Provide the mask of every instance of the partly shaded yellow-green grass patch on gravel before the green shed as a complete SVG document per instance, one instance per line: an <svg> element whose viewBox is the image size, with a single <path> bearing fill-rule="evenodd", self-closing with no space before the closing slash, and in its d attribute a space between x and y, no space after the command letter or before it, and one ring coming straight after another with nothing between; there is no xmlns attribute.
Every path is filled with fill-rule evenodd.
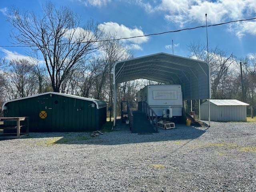
<svg viewBox="0 0 256 192"><path fill-rule="evenodd" d="M68 144L73 143L76 141L85 141L90 139L89 137L82 136L82 137L74 137L74 138L64 138L64 137L52 137L48 138L46 140L37 142L37 145L39 146L52 146L55 144Z"/></svg>

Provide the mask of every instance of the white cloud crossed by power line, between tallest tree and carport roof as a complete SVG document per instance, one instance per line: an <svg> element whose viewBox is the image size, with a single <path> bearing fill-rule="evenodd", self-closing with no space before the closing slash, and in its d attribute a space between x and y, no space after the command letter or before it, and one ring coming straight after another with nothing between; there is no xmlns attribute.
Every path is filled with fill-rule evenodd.
<svg viewBox="0 0 256 192"><path fill-rule="evenodd" d="M104 30L104 32L109 32L111 34L116 34L118 38L127 38L132 36L143 36L145 35L141 29L135 28L128 28L123 24L118 24L115 22L104 22L103 24L99 24L99 28ZM132 42L135 44L142 44L149 40L148 37L138 37L124 40L124 42Z"/></svg>

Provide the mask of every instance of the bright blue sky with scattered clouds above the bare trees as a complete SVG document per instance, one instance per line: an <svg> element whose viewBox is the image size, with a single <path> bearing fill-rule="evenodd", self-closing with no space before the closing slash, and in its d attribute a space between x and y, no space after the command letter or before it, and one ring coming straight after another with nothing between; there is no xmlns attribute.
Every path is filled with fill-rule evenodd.
<svg viewBox="0 0 256 192"><path fill-rule="evenodd" d="M10 24L6 12L11 6L21 10L42 12L46 0L5 0L0 2L0 45L12 45ZM256 17L255 0L52 0L58 6L68 6L82 16L82 23L92 18L106 31L117 32L119 37L151 34L180 28ZM208 28L209 46L244 57L256 53L256 20ZM149 38L125 41L135 56L157 52L188 56L188 44L206 44L205 28ZM15 58L26 55L26 48L0 48L0 57Z"/></svg>

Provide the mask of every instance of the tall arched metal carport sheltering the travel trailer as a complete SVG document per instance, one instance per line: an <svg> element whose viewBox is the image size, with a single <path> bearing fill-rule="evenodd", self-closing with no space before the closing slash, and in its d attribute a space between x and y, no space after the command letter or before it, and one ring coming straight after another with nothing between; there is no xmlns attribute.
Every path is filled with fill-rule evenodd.
<svg viewBox="0 0 256 192"><path fill-rule="evenodd" d="M113 76L114 126L116 124L116 85L121 82L144 78L165 84L181 84L183 100L211 97L209 65L207 62L191 58L157 53L122 60L114 64ZM210 115L208 120L210 126Z"/></svg>

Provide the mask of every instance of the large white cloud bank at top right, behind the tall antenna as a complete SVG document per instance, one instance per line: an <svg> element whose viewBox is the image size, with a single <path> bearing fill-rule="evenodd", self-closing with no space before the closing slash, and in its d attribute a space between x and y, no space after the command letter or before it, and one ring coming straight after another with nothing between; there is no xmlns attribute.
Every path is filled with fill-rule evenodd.
<svg viewBox="0 0 256 192"><path fill-rule="evenodd" d="M163 12L166 20L180 27L191 22L205 24L205 13L208 24L250 18L256 14L256 0L161 0L158 4L136 0L136 4L149 13ZM236 27L238 37L246 33L255 34L255 22L241 24ZM242 29L244 26L246 28Z"/></svg>

